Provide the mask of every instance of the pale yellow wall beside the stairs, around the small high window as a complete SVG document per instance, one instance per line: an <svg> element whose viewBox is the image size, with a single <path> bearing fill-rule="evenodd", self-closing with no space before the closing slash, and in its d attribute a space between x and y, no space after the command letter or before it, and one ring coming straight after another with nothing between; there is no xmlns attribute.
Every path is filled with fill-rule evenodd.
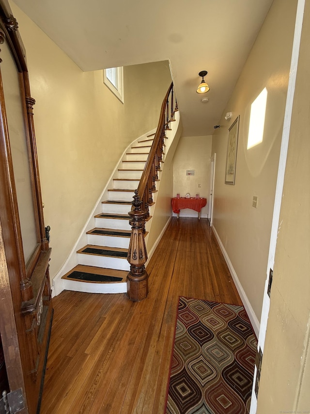
<svg viewBox="0 0 310 414"><path fill-rule="evenodd" d="M102 70L82 72L13 2L11 7L27 51L31 95L36 99L34 122L45 224L51 227L52 278L124 149L157 126L171 74L162 62L125 67L122 104L103 83ZM146 105L142 86L148 73L154 83L148 85L152 100Z"/></svg>

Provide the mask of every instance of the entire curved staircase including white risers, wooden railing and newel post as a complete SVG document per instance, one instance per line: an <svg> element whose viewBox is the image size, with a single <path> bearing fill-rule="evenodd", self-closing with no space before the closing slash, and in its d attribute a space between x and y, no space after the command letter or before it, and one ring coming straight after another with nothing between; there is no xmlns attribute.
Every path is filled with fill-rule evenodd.
<svg viewBox="0 0 310 414"><path fill-rule="evenodd" d="M161 106L157 128L142 135L125 150L75 248L54 277L53 292L56 296L62 290L74 290L127 293L128 298L135 301L146 298L148 232L152 216L155 215L156 221L162 213L160 209L157 212L154 206L161 193L158 182L162 178L163 163L166 161L168 166L171 165L181 132L182 123L171 83ZM164 186L162 194L167 201L165 191ZM168 216L170 210L167 203L165 209ZM169 218L166 224L161 222L159 227L157 223L154 232L157 239L150 239L153 243L151 254Z"/></svg>

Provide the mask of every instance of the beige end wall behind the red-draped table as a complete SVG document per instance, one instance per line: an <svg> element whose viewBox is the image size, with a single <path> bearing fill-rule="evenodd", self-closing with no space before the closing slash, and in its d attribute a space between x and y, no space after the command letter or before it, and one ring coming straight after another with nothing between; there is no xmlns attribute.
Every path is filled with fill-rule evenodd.
<svg viewBox="0 0 310 414"><path fill-rule="evenodd" d="M212 148L212 135L182 136L173 159L173 197L179 193L185 197L199 194L200 197L209 198L210 157ZM194 169L194 176L186 176L187 169ZM201 187L198 187L201 184ZM201 215L207 215L208 203L202 208ZM189 209L181 210L180 215L197 215Z"/></svg>

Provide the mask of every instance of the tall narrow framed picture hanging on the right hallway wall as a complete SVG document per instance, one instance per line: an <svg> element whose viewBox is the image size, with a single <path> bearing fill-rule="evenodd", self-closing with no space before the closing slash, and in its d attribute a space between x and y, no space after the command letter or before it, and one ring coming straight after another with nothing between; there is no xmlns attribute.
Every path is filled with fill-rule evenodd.
<svg viewBox="0 0 310 414"><path fill-rule="evenodd" d="M239 118L240 118L240 115L236 117L236 119L233 121L231 127L228 130L225 184L234 185L234 182L235 182L238 135L239 135Z"/></svg>

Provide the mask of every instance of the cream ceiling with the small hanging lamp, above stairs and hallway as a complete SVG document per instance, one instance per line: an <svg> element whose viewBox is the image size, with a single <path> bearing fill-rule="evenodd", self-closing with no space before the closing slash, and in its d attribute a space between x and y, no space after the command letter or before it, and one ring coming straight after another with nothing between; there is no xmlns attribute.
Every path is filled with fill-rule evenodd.
<svg viewBox="0 0 310 414"><path fill-rule="evenodd" d="M199 136L214 132L272 0L15 3L82 70L169 60L184 135ZM196 93L201 70L204 95Z"/></svg>

